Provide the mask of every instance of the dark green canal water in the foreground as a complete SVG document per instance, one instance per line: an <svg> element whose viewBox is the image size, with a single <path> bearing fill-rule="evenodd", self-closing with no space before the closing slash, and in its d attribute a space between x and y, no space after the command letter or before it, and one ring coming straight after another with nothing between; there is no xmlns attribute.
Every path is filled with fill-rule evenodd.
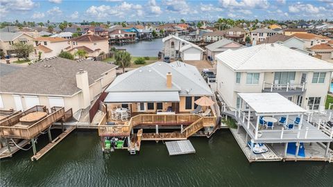
<svg viewBox="0 0 333 187"><path fill-rule="evenodd" d="M38 139L40 149L47 134ZM76 130L39 161L32 150L1 161L0 186L332 186L330 163L248 163L228 130L190 139L196 154L169 157L162 143L103 154L97 132Z"/></svg>

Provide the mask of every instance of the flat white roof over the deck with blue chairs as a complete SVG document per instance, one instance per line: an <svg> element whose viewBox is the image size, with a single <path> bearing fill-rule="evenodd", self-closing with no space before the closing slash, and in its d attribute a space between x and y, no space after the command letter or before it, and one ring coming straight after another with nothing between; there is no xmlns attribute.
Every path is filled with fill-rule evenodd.
<svg viewBox="0 0 333 187"><path fill-rule="evenodd" d="M258 115L305 114L307 110L278 93L238 94Z"/></svg>

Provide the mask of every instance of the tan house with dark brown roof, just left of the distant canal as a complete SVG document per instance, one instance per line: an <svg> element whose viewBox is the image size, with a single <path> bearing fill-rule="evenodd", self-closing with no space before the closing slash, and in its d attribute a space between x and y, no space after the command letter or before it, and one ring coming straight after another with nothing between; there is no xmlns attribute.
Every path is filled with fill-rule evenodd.
<svg viewBox="0 0 333 187"><path fill-rule="evenodd" d="M109 53L109 42L107 38L98 35L82 35L69 40L70 48L67 48L72 54L78 49L83 49L89 57L96 57L99 54Z"/></svg>

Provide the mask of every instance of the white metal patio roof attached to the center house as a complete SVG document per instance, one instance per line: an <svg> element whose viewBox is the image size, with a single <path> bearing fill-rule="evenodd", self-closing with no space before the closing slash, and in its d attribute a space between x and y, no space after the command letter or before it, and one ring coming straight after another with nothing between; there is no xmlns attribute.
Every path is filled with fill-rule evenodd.
<svg viewBox="0 0 333 187"><path fill-rule="evenodd" d="M165 92L113 92L106 96L105 103L179 102L178 91Z"/></svg>

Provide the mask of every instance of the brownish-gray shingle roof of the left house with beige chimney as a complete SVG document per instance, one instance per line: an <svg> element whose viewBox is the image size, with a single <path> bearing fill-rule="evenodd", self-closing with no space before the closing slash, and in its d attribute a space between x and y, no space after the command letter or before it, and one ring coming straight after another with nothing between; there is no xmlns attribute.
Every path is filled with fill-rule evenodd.
<svg viewBox="0 0 333 187"><path fill-rule="evenodd" d="M76 87L76 73L80 69L88 72L90 85L101 78L102 73L115 67L105 62L76 62L61 57L43 60L15 73L1 76L0 93L72 96L80 91Z"/></svg>

